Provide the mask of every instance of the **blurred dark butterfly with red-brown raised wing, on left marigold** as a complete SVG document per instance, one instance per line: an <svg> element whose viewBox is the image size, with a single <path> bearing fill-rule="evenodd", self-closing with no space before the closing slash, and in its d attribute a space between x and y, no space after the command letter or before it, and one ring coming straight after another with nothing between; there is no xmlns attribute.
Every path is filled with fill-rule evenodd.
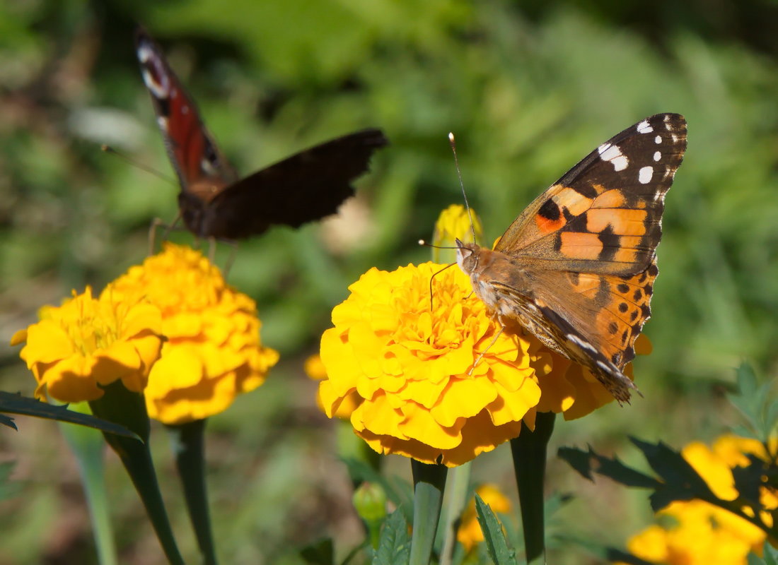
<svg viewBox="0 0 778 565"><path fill-rule="evenodd" d="M315 145L238 179L205 128L197 106L142 28L135 33L141 74L181 191L184 224L198 237L244 239L271 225L299 227L335 214L354 195L352 182L387 145L370 128Z"/></svg>

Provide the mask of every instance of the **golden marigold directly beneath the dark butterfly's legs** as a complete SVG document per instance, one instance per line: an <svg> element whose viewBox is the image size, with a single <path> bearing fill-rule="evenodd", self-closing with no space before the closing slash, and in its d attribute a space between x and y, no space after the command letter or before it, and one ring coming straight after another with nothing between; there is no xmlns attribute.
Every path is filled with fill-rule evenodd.
<svg viewBox="0 0 778 565"><path fill-rule="evenodd" d="M162 312L167 340L145 389L149 417L183 424L225 410L263 382L279 354L262 347L254 301L202 253L166 243L103 295L143 297Z"/></svg>

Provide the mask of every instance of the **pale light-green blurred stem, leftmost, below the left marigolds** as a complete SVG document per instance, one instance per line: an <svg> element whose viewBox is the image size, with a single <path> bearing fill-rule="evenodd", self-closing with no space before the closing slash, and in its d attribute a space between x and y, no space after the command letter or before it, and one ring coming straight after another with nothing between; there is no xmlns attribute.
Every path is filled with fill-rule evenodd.
<svg viewBox="0 0 778 565"><path fill-rule="evenodd" d="M86 403L71 404L69 409L91 413ZM60 424L60 428L79 462L81 483L86 494L86 504L89 506L89 518L97 548L97 560L100 565L117 565L116 543L110 525L105 487L103 438L99 431L88 427Z"/></svg>

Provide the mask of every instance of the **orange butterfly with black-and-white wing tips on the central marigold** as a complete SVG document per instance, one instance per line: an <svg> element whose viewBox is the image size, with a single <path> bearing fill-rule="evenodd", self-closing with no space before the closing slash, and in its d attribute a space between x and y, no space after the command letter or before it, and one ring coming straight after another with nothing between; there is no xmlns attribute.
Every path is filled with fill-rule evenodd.
<svg viewBox="0 0 778 565"><path fill-rule="evenodd" d="M552 350L591 370L619 402L650 316L664 195L686 122L647 117L587 155L513 221L493 250L458 242L475 293Z"/></svg>

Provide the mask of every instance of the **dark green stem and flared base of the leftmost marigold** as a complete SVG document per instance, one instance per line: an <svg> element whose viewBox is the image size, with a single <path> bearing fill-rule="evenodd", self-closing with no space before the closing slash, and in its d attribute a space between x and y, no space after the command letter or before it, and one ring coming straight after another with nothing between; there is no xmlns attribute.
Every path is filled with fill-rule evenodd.
<svg viewBox="0 0 778 565"><path fill-rule="evenodd" d="M137 392L130 392L124 388L121 381L117 381L105 387L103 397L90 402L89 407L96 417L122 424L142 438L143 442L140 442L115 434L103 434L110 448L121 459L124 469L127 469L168 562L172 565L183 565L184 559L178 551L173 530L170 528L162 494L156 481L151 452L149 452L150 424L143 396Z"/></svg>

